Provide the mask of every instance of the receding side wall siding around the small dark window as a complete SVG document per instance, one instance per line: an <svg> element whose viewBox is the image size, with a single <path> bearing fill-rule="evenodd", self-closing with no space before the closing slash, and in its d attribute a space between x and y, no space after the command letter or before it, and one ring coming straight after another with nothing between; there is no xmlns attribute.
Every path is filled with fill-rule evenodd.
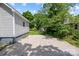
<svg viewBox="0 0 79 59"><path fill-rule="evenodd" d="M25 22L25 27L23 27ZM29 31L29 23L15 13L15 36L25 34Z"/></svg>

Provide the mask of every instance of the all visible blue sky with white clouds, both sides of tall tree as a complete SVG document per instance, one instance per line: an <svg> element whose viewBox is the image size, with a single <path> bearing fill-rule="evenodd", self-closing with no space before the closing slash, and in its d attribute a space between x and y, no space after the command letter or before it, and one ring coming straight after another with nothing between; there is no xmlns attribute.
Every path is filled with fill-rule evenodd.
<svg viewBox="0 0 79 59"><path fill-rule="evenodd" d="M10 3L10 5L19 11L21 14L29 10L32 14L37 13L42 7L42 3ZM71 14L79 14L79 4L69 10Z"/></svg>

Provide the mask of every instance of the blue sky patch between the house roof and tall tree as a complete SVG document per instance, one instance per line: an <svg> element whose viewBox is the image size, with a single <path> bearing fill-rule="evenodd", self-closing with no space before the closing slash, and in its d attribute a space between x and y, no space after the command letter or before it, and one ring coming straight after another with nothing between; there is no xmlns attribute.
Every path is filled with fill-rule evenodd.
<svg viewBox="0 0 79 59"><path fill-rule="evenodd" d="M24 11L30 11L32 14L35 14L38 12L42 5L41 3L11 3L10 4L13 8L15 8L17 11L19 11L21 14Z"/></svg>

